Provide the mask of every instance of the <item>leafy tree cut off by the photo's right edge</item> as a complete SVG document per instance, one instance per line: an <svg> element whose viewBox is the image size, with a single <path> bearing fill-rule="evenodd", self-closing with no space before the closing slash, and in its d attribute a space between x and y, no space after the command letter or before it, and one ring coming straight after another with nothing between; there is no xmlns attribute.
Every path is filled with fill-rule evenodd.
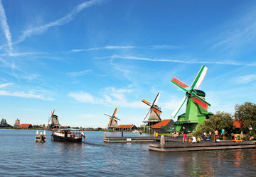
<svg viewBox="0 0 256 177"><path fill-rule="evenodd" d="M241 131L245 134L256 136L256 104L245 102L235 105L235 120L242 123Z"/></svg>

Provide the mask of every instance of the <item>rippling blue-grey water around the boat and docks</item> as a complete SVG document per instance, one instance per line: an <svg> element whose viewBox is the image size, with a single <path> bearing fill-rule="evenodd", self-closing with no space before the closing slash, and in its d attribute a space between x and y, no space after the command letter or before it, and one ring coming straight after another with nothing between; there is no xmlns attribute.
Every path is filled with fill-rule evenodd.
<svg viewBox="0 0 256 177"><path fill-rule="evenodd" d="M256 176L256 149L161 153L147 143L105 143L104 132L85 132L77 144L53 142L50 131L47 142L35 135L0 130L0 176Z"/></svg>

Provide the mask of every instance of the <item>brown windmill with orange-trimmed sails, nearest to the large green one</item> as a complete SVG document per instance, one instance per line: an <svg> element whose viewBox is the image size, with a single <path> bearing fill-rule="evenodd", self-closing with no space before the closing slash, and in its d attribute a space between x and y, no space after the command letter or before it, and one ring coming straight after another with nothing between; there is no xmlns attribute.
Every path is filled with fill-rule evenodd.
<svg viewBox="0 0 256 177"><path fill-rule="evenodd" d="M146 103L146 105L149 105L149 111L146 113L144 117L144 132L151 132L151 126L155 125L158 122L161 122L161 108L159 108L156 103L159 100L160 93L157 93L156 98L154 99L153 103L149 103L149 101L142 100L143 103ZM149 115L150 112L150 115ZM147 115L149 115L149 119L145 120Z"/></svg>

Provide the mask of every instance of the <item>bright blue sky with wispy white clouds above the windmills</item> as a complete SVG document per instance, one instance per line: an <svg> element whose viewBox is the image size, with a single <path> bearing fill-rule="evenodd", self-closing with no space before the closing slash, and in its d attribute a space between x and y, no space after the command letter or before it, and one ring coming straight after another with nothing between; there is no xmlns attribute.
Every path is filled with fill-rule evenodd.
<svg viewBox="0 0 256 177"><path fill-rule="evenodd" d="M0 0L0 115L14 125L142 125L161 93L162 119L201 84L209 111L256 103L255 1ZM180 113L184 112L184 108Z"/></svg>

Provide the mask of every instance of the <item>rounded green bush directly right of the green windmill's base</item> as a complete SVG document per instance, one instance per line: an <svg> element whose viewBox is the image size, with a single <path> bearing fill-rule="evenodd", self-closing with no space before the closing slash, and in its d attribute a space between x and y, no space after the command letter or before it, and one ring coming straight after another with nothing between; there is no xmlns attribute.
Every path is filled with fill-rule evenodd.
<svg viewBox="0 0 256 177"><path fill-rule="evenodd" d="M234 131L233 118L229 113L216 112L210 119L205 120L196 130L196 136L201 136L203 132L212 132L214 136L215 130L218 130L219 135L221 130L224 128L225 137L230 137Z"/></svg>

